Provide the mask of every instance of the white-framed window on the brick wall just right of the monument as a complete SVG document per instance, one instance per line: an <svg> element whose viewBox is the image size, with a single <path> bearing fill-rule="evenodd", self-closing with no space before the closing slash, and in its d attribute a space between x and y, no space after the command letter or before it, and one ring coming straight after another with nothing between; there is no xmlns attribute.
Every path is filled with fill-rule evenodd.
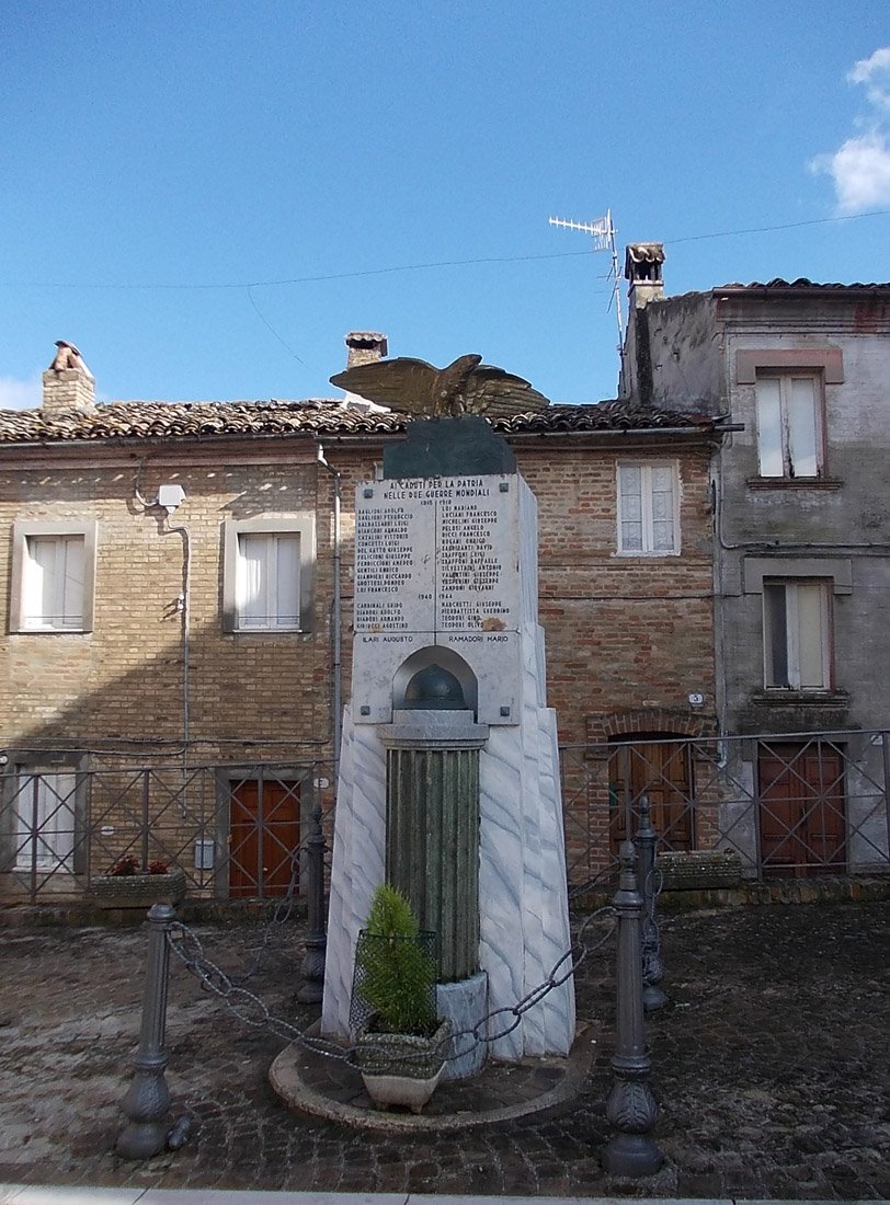
<svg viewBox="0 0 890 1205"><path fill-rule="evenodd" d="M617 547L628 556L671 556L680 551L675 464L620 464Z"/></svg>

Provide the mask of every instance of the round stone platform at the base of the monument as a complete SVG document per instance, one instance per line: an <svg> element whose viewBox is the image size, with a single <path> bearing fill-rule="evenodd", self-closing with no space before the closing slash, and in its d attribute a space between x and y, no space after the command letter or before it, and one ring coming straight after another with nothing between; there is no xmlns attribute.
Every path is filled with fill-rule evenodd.
<svg viewBox="0 0 890 1205"><path fill-rule="evenodd" d="M376 1110L356 1068L297 1042L274 1060L269 1082L288 1107L357 1129L443 1133L493 1125L573 1100L593 1065L596 1031L595 1023L579 1022L567 1058L488 1062L472 1080L440 1083L420 1115Z"/></svg>

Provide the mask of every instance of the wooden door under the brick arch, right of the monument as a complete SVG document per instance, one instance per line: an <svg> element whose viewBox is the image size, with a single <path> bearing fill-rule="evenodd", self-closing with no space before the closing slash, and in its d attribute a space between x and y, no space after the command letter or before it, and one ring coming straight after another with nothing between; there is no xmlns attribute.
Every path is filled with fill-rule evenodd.
<svg viewBox="0 0 890 1205"><path fill-rule="evenodd" d="M691 850L692 763L686 741L645 739L616 748L609 759L610 835L613 852L625 840L626 800L630 793L633 828L639 798L649 798L649 818L658 834L660 850Z"/></svg>

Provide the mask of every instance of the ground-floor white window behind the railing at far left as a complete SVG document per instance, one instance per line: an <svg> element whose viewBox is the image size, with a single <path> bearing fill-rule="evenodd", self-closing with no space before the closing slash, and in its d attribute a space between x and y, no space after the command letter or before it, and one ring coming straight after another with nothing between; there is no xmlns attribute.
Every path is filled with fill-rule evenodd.
<svg viewBox="0 0 890 1205"><path fill-rule="evenodd" d="M23 769L14 782L14 869L74 871L76 775Z"/></svg>

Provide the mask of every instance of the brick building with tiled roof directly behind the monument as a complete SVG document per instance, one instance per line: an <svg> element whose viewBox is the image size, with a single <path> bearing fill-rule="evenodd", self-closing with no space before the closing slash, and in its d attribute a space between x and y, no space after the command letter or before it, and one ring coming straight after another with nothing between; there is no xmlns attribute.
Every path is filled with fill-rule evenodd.
<svg viewBox="0 0 890 1205"><path fill-rule="evenodd" d="M356 399L96 405L81 360L0 412L0 889L77 894L125 852L195 892L286 888L333 790L355 486L404 425ZM626 400L493 425L538 496L561 741L713 731L720 424ZM567 774L579 850L614 778Z"/></svg>

